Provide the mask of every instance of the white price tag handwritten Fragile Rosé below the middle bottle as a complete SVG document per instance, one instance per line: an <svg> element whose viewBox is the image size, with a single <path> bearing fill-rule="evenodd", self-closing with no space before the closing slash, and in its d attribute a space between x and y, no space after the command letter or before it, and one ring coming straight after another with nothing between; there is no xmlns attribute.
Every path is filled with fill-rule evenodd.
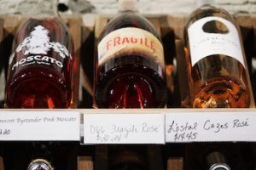
<svg viewBox="0 0 256 170"><path fill-rule="evenodd" d="M164 144L164 114L85 114L84 144Z"/></svg>

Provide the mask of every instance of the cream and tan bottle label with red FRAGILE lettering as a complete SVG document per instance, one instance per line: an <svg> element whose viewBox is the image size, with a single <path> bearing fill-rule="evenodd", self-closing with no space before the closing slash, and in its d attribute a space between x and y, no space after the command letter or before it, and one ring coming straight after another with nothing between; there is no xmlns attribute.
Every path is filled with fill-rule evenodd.
<svg viewBox="0 0 256 170"><path fill-rule="evenodd" d="M148 31L127 27L110 32L98 44L98 65L119 55L139 54L165 66L163 46Z"/></svg>

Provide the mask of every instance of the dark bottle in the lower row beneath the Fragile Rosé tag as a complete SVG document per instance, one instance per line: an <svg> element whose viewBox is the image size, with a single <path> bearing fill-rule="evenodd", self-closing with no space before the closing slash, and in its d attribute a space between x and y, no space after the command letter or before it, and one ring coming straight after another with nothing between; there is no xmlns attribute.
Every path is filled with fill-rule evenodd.
<svg viewBox="0 0 256 170"><path fill-rule="evenodd" d="M148 170L146 150L137 146L112 146L108 148L109 170Z"/></svg>

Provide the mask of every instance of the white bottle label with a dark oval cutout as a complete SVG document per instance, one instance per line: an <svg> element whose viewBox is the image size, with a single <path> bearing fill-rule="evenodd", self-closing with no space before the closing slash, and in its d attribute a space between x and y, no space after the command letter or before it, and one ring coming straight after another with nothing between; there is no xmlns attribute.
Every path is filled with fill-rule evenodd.
<svg viewBox="0 0 256 170"><path fill-rule="evenodd" d="M238 31L229 20L210 16L189 26L191 64L209 55L223 54L237 59L245 66Z"/></svg>

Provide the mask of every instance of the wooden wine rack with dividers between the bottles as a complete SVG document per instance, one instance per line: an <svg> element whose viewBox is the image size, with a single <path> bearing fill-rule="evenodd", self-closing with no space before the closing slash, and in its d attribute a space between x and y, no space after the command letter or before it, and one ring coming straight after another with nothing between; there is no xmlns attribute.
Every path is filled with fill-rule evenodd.
<svg viewBox="0 0 256 170"><path fill-rule="evenodd" d="M80 72L73 72L73 103L72 108L79 107L76 109L68 109L62 111L78 111L81 114L96 114L96 113L108 113L108 110L92 109L93 99L92 95L92 84L93 84L93 55L96 51L97 38L102 31L103 26L106 26L108 20L112 18L113 15L102 16L97 14L85 14L85 15L63 15L62 18L67 22L67 26L71 31L74 40L74 51L79 60L77 60L77 65L80 65ZM166 73L167 73L167 85L169 89L170 98L168 99L167 108L160 110L133 110L137 113L148 113L148 112L160 112L160 113L172 113L175 112L193 112L195 110L182 109L181 107L188 106L188 87L186 87L186 73L184 68L176 65L177 63L183 63L183 27L187 19L186 15L148 15L148 20L150 20L157 31L160 32L162 40L165 46L166 54ZM244 48L247 55L247 60L251 60L256 57L256 15L255 14L236 14L236 21L241 28L241 36L244 42ZM0 74L0 100L3 107L4 98L4 84L6 67L8 63L8 57L11 53L11 44L15 33L15 27L24 20L23 16L20 15L8 15L2 16L0 18L0 53L1 53L1 74ZM253 71L253 66L249 65L249 70ZM178 74L177 74L178 73ZM251 76L251 81L255 87L256 79ZM255 80L254 80L254 79ZM79 84L79 86L78 86ZM253 90L256 90L253 89ZM256 91L254 91L256 94ZM182 103L182 106L180 105ZM13 110L6 110L3 111ZM24 110L15 110L24 111ZM45 110L44 110L45 111ZM198 110L200 112L207 112L208 110ZM211 110L211 111L236 111L236 112L256 112L254 108L251 109L231 109L231 110ZM120 113L130 112L128 110L119 111ZM136 113L135 113L136 114ZM232 142L232 141L230 141ZM253 142L256 142L253 141ZM252 144L253 144L252 142ZM9 142L5 142L9 143ZM86 148L87 145L78 144L79 147ZM88 156L77 155L76 167L78 170L108 170L108 145L91 144L90 147L94 147L95 150L88 154ZM154 150L154 154L148 151L148 160L151 162L150 170L153 169L167 169L167 170L183 170L183 156L172 155L172 156L160 156L160 148L166 150L169 144L155 144L149 145L148 150ZM179 146L183 148L183 146ZM161 160L155 160L155 157ZM151 161L150 161L151 160ZM154 160L154 161L153 161ZM0 157L0 170L3 170L5 158ZM185 169L186 170L186 169Z"/></svg>

